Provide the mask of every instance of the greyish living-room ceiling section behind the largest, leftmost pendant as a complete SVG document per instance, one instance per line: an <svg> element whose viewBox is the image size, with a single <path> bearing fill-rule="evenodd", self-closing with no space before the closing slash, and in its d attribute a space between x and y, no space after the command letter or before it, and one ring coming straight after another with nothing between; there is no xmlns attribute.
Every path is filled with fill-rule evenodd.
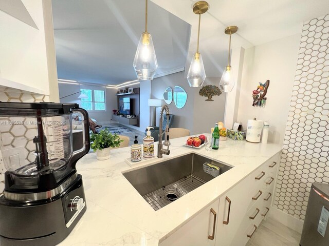
<svg viewBox="0 0 329 246"><path fill-rule="evenodd" d="M52 0L58 78L118 85L133 68L145 28L144 0ZM149 2L156 75L184 69L191 26Z"/></svg>

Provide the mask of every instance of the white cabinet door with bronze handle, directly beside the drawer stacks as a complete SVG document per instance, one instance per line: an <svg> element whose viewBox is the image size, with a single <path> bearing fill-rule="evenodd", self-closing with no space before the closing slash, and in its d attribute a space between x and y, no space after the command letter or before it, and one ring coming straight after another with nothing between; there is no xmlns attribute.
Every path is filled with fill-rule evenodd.
<svg viewBox="0 0 329 246"><path fill-rule="evenodd" d="M233 246L234 237L241 236L239 228L246 216L248 202L251 200L249 192L250 178L251 176L249 175L220 198L216 246Z"/></svg>

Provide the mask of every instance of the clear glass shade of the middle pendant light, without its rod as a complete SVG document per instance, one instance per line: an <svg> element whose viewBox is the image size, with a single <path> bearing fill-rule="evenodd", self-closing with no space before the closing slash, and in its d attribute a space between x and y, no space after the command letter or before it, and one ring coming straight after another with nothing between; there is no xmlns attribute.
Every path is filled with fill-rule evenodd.
<svg viewBox="0 0 329 246"><path fill-rule="evenodd" d="M200 53L195 53L187 74L187 80L190 87L202 87L206 79L206 72L202 56Z"/></svg>

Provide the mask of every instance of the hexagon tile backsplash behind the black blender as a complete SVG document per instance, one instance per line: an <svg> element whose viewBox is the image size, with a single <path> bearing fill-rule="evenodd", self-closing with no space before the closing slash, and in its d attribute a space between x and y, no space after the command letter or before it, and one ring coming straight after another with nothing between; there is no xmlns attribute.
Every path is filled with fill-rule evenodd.
<svg viewBox="0 0 329 246"><path fill-rule="evenodd" d="M9 87L0 86L0 101L17 102L17 103L39 103L49 101L47 95L31 94L26 91L17 90ZM18 118L15 118L17 120ZM8 121L9 118L1 118L2 121ZM20 119L26 121L26 119ZM22 151L28 156L27 161L34 160L33 152L35 145L31 137L35 135L35 125L1 125L0 134L3 139L0 147L4 149L12 147L23 147Z"/></svg>

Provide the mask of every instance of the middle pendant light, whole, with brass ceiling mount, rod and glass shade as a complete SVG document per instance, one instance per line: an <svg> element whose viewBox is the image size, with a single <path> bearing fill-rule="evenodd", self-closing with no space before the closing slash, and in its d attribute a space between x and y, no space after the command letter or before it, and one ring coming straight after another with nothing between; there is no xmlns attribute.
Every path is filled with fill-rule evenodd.
<svg viewBox="0 0 329 246"><path fill-rule="evenodd" d="M208 6L208 3L205 1L199 1L193 5L193 12L199 15L199 26L197 30L196 53L193 55L190 69L187 74L187 80L189 81L190 87L202 87L202 84L206 79L204 63L202 61L202 56L199 53L199 36L201 15L207 12Z"/></svg>

